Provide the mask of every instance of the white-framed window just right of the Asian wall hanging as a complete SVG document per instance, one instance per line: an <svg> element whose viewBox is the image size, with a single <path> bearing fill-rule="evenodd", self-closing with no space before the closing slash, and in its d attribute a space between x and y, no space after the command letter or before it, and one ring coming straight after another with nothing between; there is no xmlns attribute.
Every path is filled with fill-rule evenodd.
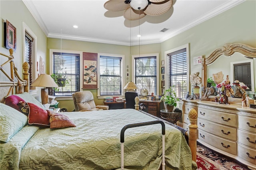
<svg viewBox="0 0 256 170"><path fill-rule="evenodd" d="M98 61L100 61L98 96L123 95L123 57L123 55L98 53Z"/></svg>

